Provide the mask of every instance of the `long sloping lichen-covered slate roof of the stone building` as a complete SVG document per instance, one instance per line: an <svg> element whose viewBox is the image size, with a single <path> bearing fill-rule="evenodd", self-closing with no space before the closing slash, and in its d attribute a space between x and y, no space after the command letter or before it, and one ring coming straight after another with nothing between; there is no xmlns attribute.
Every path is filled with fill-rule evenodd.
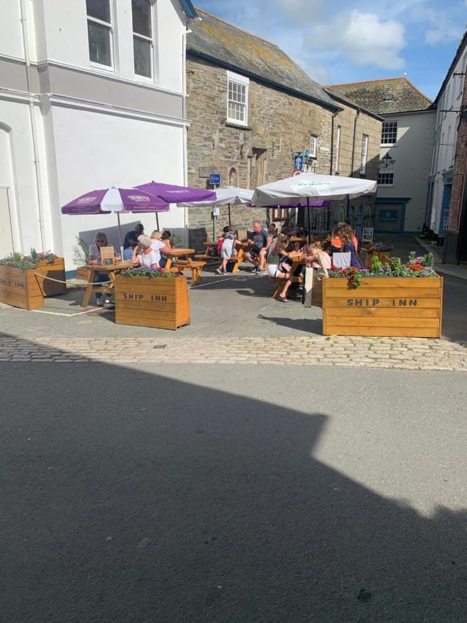
<svg viewBox="0 0 467 623"><path fill-rule="evenodd" d="M340 107L317 82L275 44L241 30L196 7L201 21L190 24L187 52L250 78L319 102Z"/></svg>

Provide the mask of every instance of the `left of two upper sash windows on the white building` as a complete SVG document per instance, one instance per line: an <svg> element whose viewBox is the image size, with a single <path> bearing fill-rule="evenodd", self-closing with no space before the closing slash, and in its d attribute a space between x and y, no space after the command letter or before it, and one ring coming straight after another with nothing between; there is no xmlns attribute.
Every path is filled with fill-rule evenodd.
<svg viewBox="0 0 467 623"><path fill-rule="evenodd" d="M110 0L86 0L89 60L91 63L113 65L112 14Z"/></svg>

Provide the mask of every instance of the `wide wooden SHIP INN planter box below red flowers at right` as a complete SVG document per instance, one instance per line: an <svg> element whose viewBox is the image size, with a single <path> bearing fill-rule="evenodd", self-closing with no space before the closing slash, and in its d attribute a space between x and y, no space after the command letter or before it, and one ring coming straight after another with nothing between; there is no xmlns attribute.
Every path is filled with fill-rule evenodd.
<svg viewBox="0 0 467 623"><path fill-rule="evenodd" d="M441 337L442 277L323 279L324 335Z"/></svg>

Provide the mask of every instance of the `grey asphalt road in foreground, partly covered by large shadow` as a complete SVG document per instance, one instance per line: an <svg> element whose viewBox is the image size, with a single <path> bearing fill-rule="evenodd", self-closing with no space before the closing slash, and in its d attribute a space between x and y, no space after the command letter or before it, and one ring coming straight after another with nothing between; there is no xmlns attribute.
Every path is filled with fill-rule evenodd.
<svg viewBox="0 0 467 623"><path fill-rule="evenodd" d="M465 374L0 365L2 622L467 620Z"/></svg>

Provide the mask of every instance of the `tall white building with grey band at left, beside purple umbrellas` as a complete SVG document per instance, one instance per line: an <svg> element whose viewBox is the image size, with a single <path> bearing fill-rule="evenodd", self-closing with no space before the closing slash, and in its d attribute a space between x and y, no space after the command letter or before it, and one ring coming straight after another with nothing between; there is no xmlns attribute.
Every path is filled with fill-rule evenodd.
<svg viewBox="0 0 467 623"><path fill-rule="evenodd" d="M71 262L75 236L115 215L60 206L113 184L184 184L190 0L3 0L0 21L0 256L31 247ZM161 226L183 234L185 210ZM122 217L125 229L139 215ZM142 215L147 231L154 214Z"/></svg>

